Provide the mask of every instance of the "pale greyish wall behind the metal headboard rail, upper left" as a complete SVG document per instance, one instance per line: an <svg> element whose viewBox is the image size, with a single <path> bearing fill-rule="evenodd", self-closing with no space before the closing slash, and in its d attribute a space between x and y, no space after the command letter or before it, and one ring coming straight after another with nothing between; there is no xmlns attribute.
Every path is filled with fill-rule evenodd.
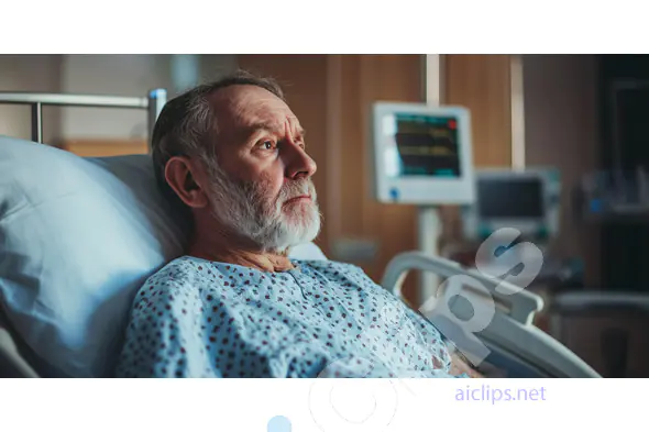
<svg viewBox="0 0 649 432"><path fill-rule="evenodd" d="M235 55L199 55L197 81L237 68ZM142 96L150 89L178 92L170 55L0 55L0 91ZM183 89L184 90L184 89ZM29 107L0 106L0 134L30 139ZM145 110L44 109L44 139L144 139Z"/></svg>

